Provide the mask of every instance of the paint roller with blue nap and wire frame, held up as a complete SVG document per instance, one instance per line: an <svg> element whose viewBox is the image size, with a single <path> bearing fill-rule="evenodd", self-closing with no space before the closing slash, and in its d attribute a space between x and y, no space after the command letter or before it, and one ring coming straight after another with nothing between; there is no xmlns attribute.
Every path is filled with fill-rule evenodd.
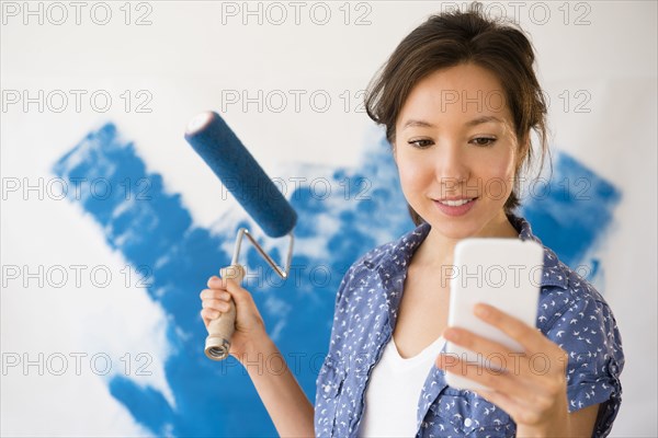
<svg viewBox="0 0 658 438"><path fill-rule="evenodd" d="M242 281L245 267L239 264L239 255L242 240L247 238L272 269L281 278L287 278L293 255L293 228L297 221L293 207L217 113L204 112L195 116L188 124L185 140L265 234L271 238L287 235L290 239L284 267L280 267L249 230L240 228L230 266L220 269L222 277ZM209 359L222 360L228 356L235 320L235 302L230 300L230 310L208 324L205 354Z"/></svg>

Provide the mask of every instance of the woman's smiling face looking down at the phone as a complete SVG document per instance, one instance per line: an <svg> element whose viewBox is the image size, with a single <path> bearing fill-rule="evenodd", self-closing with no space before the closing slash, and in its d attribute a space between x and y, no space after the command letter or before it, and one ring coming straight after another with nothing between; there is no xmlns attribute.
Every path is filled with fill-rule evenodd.
<svg viewBox="0 0 658 438"><path fill-rule="evenodd" d="M473 64L419 81L396 122L405 197L432 231L451 239L501 233L517 150L500 82Z"/></svg>

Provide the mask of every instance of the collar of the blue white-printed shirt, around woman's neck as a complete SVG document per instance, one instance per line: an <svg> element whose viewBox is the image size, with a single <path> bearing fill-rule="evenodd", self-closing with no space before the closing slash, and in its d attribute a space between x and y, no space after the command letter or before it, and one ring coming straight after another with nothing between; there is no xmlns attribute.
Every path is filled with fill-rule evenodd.
<svg viewBox="0 0 658 438"><path fill-rule="evenodd" d="M519 232L519 239L533 240L544 247L544 268L542 272L541 286L558 286L563 289L567 288L567 273L564 265L557 258L557 255L542 244L542 241L533 234L530 222L519 216L508 215L508 219L514 229ZM415 230L402 235L398 241L394 242L390 247L390 256L383 257L379 263L378 272L384 286L393 286L396 290L401 291L404 279L407 275L409 262L413 253L424 241L430 232L431 226L427 222L419 224ZM373 266L366 263L367 266Z"/></svg>

